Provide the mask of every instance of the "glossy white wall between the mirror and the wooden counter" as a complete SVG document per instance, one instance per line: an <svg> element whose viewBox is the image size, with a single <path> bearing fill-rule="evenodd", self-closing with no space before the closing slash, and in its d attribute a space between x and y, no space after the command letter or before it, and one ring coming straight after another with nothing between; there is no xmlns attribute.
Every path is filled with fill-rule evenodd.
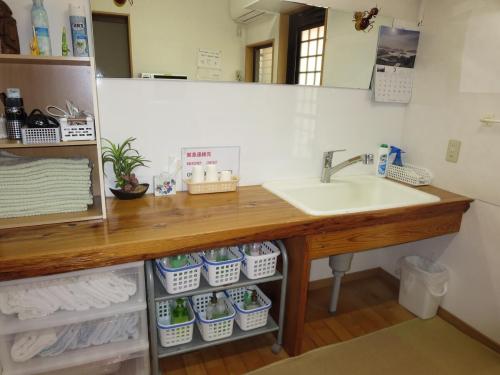
<svg viewBox="0 0 500 375"><path fill-rule="evenodd" d="M98 94L103 136L136 136L153 161L138 171L146 182L181 147L206 145L241 146L243 185L319 176L323 151L346 148L343 160L399 144L405 111L372 103L368 91L282 85L101 79ZM379 256L360 254L353 269L376 267ZM326 260L313 263L312 279L330 275Z"/></svg>

